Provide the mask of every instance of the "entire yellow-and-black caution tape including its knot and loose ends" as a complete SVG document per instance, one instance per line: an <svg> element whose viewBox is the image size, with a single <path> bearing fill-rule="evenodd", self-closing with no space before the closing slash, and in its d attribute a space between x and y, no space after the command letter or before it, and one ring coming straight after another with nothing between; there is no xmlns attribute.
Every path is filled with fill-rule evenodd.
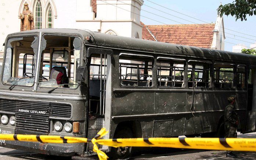
<svg viewBox="0 0 256 160"><path fill-rule="evenodd" d="M0 139L7 141L27 141L43 143L93 143L93 151L100 160L107 160L108 156L102 152L97 144L111 147L167 147L185 149L208 150L237 150L256 152L255 138L120 138L100 139L108 131L102 128L93 139L53 136L53 135L20 135L0 134Z"/></svg>

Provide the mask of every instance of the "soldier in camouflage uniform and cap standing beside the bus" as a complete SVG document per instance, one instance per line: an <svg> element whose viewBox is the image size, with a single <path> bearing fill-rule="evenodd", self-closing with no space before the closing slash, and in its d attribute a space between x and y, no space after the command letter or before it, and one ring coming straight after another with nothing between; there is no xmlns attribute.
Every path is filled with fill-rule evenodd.
<svg viewBox="0 0 256 160"><path fill-rule="evenodd" d="M231 95L228 97L229 104L225 108L224 112L224 120L225 120L225 130L226 130L226 138L237 138L237 113L235 112L235 99L236 95ZM227 157L237 157L232 151L227 150Z"/></svg>

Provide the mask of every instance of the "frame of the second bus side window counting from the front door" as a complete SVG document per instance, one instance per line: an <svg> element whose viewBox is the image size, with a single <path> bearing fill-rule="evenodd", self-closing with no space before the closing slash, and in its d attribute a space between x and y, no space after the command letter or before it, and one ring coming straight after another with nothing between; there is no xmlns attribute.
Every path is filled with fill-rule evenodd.
<svg viewBox="0 0 256 160"><path fill-rule="evenodd" d="M183 63L183 86L181 86L181 87L173 87L173 86L158 86L158 66L159 65L157 65L157 63L158 63L158 59L167 59L167 60L170 60L170 61L180 61L180 62L184 62ZM168 88L168 89L184 89L184 88L186 88L186 86L187 86L187 83L185 82L185 74L187 74L187 73L185 73L185 71L186 71L186 66L187 66L187 61L186 61L186 59L184 59L184 58L174 58L174 57L162 57L162 56L158 56L157 58L156 58L156 87L157 88ZM171 66L166 66L166 68L167 67L169 67L169 68L171 68Z"/></svg>

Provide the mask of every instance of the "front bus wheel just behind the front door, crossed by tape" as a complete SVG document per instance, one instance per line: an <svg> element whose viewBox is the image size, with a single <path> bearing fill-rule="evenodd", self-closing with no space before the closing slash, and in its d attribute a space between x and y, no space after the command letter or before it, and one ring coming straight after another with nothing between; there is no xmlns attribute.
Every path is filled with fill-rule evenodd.
<svg viewBox="0 0 256 160"><path fill-rule="evenodd" d="M130 128L123 128L115 133L114 138L133 138L133 132ZM109 156L111 159L127 159L131 153L132 147L112 147Z"/></svg>

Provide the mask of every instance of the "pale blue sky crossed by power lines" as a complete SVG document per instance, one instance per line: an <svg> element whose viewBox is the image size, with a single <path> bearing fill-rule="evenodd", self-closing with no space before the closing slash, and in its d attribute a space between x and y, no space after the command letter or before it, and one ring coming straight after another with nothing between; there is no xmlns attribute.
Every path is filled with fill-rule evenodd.
<svg viewBox="0 0 256 160"><path fill-rule="evenodd" d="M194 17L196 19L200 19L202 21L208 22L208 23L215 23L217 19L217 8L220 5L220 2L222 4L232 3L233 0L150 0L154 3L157 3L161 6L164 6L166 8L170 8L172 10L175 10L177 12L181 12L183 14L189 15L191 17ZM174 11L170 11L166 8L157 6L156 4L153 4L149 2L148 0L144 0L144 4L153 8L156 8L157 10L154 10L150 7L147 7L145 5L142 6L141 9L149 11L154 14L161 15L161 18L156 15L150 14L146 11L141 11L141 21L145 23L146 25L162 25L163 23L166 24L180 24L178 22L184 23L184 24L195 24L195 23L204 23L202 21L198 21L196 19L187 17L185 15L179 14ZM160 11L158 11L160 10ZM167 12L168 14L172 14L174 16L177 16L179 18L186 19L188 21L185 21L183 19L179 19L176 17L173 17L171 15L165 14L163 12ZM145 17L155 19L159 22L153 21L151 19L145 18ZM174 21L171 21L169 19L172 19ZM192 21L192 22L189 22ZM160 23L162 22L162 23ZM229 15L228 17L224 15L224 28L225 28L225 50L226 51L232 51L232 46L235 44L245 44L246 46L250 47L250 44L256 43L256 16L253 17L247 17L247 21L237 20L235 21L235 17L232 17ZM230 29L230 30L228 30ZM237 32L233 32L231 30L235 30ZM248 36L246 34L252 35ZM240 36L240 37L239 37ZM230 38L229 38L230 37ZM245 37L245 38L242 38ZM233 38L233 39L231 39ZM235 40L238 39L238 40ZM245 42L247 41L247 42ZM229 43L228 43L229 42ZM230 44L234 43L234 44Z"/></svg>

